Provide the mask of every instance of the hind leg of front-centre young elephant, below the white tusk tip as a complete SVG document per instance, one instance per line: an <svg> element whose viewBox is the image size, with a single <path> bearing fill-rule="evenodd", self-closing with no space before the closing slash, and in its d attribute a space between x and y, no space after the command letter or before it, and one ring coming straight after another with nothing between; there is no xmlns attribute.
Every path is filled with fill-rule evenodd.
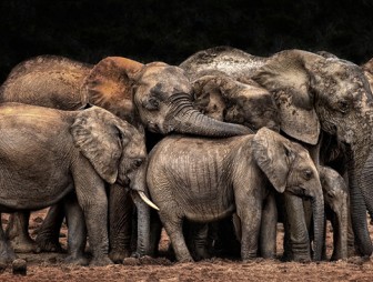
<svg viewBox="0 0 373 282"><path fill-rule="evenodd" d="M177 260L179 262L192 262L193 259L188 250L182 232L182 219L173 212L168 214L160 212L160 218L172 243Z"/></svg>

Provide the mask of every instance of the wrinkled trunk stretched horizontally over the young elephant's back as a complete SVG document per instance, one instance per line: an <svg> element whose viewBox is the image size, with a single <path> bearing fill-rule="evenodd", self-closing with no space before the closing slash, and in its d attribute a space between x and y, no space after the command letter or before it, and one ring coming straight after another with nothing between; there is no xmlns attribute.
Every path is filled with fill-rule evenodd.
<svg viewBox="0 0 373 282"><path fill-rule="evenodd" d="M170 104L175 107L165 118L165 131L205 137L233 137L254 133L246 127L214 120L192 107L188 94L174 94Z"/></svg>

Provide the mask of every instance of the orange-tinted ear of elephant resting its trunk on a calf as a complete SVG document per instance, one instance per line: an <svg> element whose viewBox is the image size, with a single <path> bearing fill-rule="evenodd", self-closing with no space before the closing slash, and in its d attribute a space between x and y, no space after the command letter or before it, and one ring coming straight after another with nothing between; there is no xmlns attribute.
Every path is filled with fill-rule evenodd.
<svg viewBox="0 0 373 282"><path fill-rule="evenodd" d="M87 75L82 94L89 102L109 110L117 117L135 123L133 83L143 64L121 57L108 57Z"/></svg>

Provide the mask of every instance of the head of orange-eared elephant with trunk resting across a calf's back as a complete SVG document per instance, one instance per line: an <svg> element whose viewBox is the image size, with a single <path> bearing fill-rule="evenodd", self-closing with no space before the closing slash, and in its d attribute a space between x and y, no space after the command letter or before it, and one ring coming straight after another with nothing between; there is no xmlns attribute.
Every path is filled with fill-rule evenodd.
<svg viewBox="0 0 373 282"><path fill-rule="evenodd" d="M85 102L100 105L149 131L228 137L251 131L205 117L193 108L184 71L163 62L142 64L108 57L95 64L82 84Z"/></svg>

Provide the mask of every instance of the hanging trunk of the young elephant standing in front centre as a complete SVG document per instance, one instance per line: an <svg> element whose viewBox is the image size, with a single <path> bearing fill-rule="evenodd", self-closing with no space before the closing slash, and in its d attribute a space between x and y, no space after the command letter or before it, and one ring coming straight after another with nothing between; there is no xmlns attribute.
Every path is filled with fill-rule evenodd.
<svg viewBox="0 0 373 282"><path fill-rule="evenodd" d="M312 211L313 211L313 228L314 228L314 245L313 245L313 260L321 261L322 249L324 242L324 198L322 193L312 198Z"/></svg>

